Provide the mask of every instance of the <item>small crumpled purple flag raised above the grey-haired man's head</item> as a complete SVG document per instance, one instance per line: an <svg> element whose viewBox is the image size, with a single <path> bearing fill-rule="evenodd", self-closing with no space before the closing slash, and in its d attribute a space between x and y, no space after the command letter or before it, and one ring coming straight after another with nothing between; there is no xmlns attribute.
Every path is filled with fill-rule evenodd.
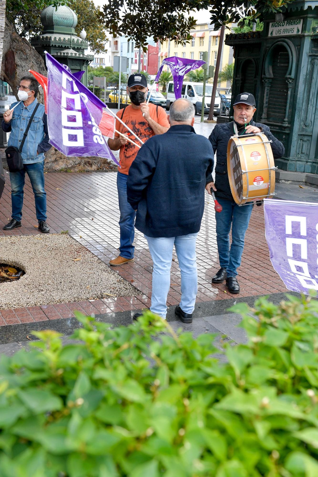
<svg viewBox="0 0 318 477"><path fill-rule="evenodd" d="M181 89L185 74L189 73L189 71L201 68L203 64L205 64L205 61L203 60L189 60L188 58L171 56L170 58L163 60L161 63L154 83L158 83L164 65L169 66L174 79L174 96L175 99L179 99L181 98Z"/></svg>

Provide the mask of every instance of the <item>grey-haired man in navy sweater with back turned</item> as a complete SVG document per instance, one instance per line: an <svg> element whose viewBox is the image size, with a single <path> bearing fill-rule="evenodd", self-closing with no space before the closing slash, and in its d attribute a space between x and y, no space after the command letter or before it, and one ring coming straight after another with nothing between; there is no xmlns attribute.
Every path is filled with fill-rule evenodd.
<svg viewBox="0 0 318 477"><path fill-rule="evenodd" d="M170 129L148 139L130 166L127 200L137 210L135 227L144 233L154 262L150 310L165 318L172 251L181 270L181 301L175 314L192 322L197 293L195 241L212 174L213 148L192 127L195 109L186 99L170 107ZM141 313L135 313L134 319Z"/></svg>

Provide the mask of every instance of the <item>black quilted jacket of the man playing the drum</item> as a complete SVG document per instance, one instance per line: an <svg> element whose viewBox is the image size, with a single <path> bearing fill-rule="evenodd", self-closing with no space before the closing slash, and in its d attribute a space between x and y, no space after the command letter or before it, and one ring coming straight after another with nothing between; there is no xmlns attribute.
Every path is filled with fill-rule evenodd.
<svg viewBox="0 0 318 477"><path fill-rule="evenodd" d="M278 139L272 135L269 127L262 123L255 123L251 121L252 126L262 129L269 140L272 141L271 147L274 159L278 159L285 153L285 148ZM239 126L241 127L241 126ZM214 153L216 152L215 165L215 196L223 197L225 199L232 199L230 183L227 176L227 143L234 132L234 121L224 124L216 124L212 133L209 136L209 141L212 144ZM206 184L213 182L212 175L206 179Z"/></svg>

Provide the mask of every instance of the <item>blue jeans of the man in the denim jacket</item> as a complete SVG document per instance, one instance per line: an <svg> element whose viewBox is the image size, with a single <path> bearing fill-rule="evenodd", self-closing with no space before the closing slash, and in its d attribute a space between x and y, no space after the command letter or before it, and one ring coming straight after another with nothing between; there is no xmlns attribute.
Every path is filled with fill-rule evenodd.
<svg viewBox="0 0 318 477"><path fill-rule="evenodd" d="M33 164L23 164L19 172L10 172L12 218L21 220L23 206L23 187L25 173L28 174L35 198L36 218L39 222L46 221L46 192L44 190L44 161Z"/></svg>

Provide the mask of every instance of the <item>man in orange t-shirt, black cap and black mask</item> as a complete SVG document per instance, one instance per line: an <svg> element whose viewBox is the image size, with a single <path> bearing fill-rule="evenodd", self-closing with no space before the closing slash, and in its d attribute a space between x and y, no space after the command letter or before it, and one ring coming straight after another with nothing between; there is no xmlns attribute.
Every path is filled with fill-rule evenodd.
<svg viewBox="0 0 318 477"><path fill-rule="evenodd" d="M120 109L116 114L144 143L155 134L164 134L169 129L168 118L164 109L151 103L146 104L147 91L147 80L144 74L131 74L127 82L127 94L129 94L132 104ZM119 121L116 121L116 129L136 144L140 144ZM137 156L139 148L117 133L114 139L108 139L108 145L113 151L120 150L120 167L118 167L117 173L120 247L119 256L109 262L113 267L117 267L134 260L133 239L136 212L127 202L127 177L129 167Z"/></svg>

